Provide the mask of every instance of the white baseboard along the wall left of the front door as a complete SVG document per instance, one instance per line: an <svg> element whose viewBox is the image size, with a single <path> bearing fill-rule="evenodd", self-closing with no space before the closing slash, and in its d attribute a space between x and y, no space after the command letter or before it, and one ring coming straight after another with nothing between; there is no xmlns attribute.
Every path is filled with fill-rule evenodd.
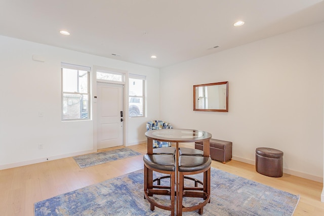
<svg viewBox="0 0 324 216"><path fill-rule="evenodd" d="M51 157L43 157L43 158L38 158L38 159L33 159L33 160L20 161L20 162L16 162L16 163L8 163L5 165L0 165L0 170L14 168L14 167L18 167L18 166L30 165L30 164L34 164L34 163L41 163L41 162L50 161L50 160L57 160L57 159L62 159L62 158L66 158L66 157L73 157L76 155L88 154L88 153L93 153L93 152L96 152L96 151L88 150L88 151L82 151L82 152L74 152L74 153L69 153L69 154L56 155L56 156L51 156Z"/></svg>

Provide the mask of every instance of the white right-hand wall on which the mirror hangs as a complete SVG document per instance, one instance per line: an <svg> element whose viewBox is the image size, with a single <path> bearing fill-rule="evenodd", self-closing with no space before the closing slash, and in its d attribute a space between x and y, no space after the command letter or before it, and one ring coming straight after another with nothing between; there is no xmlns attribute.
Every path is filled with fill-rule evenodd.
<svg viewBox="0 0 324 216"><path fill-rule="evenodd" d="M284 152L284 172L322 181L324 23L161 69L161 118L233 142ZM221 45L220 45L221 46ZM193 85L229 81L229 112L193 111Z"/></svg>

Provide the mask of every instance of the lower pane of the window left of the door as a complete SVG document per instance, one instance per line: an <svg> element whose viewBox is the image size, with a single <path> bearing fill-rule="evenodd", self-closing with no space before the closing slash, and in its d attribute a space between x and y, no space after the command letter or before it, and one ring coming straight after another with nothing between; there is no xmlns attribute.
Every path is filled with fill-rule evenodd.
<svg viewBox="0 0 324 216"><path fill-rule="evenodd" d="M80 119L88 116L88 95L63 94L63 119Z"/></svg>

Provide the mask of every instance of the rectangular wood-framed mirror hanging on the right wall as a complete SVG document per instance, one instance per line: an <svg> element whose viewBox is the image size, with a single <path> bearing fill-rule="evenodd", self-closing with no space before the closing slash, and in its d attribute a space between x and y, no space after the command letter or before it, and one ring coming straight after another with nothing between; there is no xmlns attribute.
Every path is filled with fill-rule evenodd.
<svg viewBox="0 0 324 216"><path fill-rule="evenodd" d="M228 112L228 81L193 85L193 110Z"/></svg>

